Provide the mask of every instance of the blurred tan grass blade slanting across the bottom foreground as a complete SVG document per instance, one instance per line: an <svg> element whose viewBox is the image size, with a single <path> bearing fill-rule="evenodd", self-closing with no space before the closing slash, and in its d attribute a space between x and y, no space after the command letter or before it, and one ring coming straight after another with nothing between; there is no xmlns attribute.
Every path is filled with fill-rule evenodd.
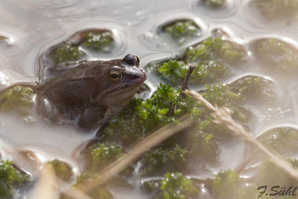
<svg viewBox="0 0 298 199"><path fill-rule="evenodd" d="M183 116L179 118L179 120L172 122L170 124L164 125L159 128L148 137L143 139L142 141L136 142L132 144L129 148L129 153L122 155L116 161L112 162L106 168L104 168L97 176L94 177L92 181L88 181L80 186L78 189L82 192L88 193L91 190L95 189L102 183L107 182L119 172L124 170L130 163L136 160L139 156L141 156L144 152L149 150L150 148L156 146L161 143L165 139L169 138L171 135L181 131L182 129L190 126L193 123L189 116ZM73 194L76 191L74 188L65 192L65 195L71 196L72 198L79 199L77 195ZM77 190L78 191L78 190Z"/></svg>

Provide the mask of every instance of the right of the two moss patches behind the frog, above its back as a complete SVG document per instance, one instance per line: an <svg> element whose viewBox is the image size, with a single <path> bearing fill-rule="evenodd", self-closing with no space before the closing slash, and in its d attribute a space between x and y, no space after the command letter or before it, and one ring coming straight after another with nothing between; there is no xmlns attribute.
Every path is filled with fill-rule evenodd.
<svg viewBox="0 0 298 199"><path fill-rule="evenodd" d="M89 32L86 41L82 45L101 52L108 52L114 46L113 33L111 31L100 33Z"/></svg>

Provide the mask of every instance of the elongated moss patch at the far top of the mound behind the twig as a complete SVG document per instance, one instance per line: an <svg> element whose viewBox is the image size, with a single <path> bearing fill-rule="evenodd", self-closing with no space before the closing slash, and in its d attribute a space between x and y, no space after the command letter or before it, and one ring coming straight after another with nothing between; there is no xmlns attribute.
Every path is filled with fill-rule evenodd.
<svg viewBox="0 0 298 199"><path fill-rule="evenodd" d="M184 53L185 61L219 61L234 64L244 60L246 54L239 44L226 41L224 37L209 37L196 46L190 46Z"/></svg>

